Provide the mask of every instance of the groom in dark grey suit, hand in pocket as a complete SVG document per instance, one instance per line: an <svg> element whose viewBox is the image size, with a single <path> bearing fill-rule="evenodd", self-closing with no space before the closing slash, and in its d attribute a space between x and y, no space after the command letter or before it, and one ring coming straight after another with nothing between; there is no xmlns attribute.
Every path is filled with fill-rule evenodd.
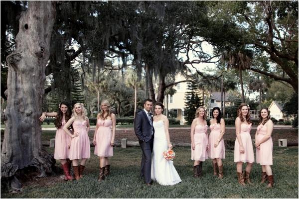
<svg viewBox="0 0 299 199"><path fill-rule="evenodd" d="M141 177L145 177L147 186L151 185L150 169L151 169L151 152L153 146L153 133L152 127L152 100L144 100L144 109L136 114L134 129L135 134L139 140L142 149L141 160Z"/></svg>

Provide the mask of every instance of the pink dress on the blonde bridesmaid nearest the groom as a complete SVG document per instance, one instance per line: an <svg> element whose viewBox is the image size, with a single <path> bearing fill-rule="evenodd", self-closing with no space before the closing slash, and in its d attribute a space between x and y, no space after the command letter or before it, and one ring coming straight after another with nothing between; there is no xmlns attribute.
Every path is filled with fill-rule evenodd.
<svg viewBox="0 0 299 199"><path fill-rule="evenodd" d="M113 156L113 147L111 146L112 140L112 120L111 119L98 119L98 130L96 134L95 155L99 157Z"/></svg>

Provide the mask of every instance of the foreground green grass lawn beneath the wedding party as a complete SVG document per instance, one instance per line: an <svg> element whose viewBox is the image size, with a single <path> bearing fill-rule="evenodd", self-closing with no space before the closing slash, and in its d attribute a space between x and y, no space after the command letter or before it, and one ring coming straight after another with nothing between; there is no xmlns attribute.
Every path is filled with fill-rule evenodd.
<svg viewBox="0 0 299 199"><path fill-rule="evenodd" d="M53 149L50 151L53 152ZM111 176L99 183L99 163L93 151L94 148L91 149L84 178L80 181L61 180L46 186L35 183L24 187L22 193L1 192L1 198L298 198L298 147L274 148L272 168L275 184L272 189L268 189L266 184L260 185L261 166L257 164L254 164L251 172L254 185L241 187L237 182L231 150L226 150L226 159L223 161L223 180L213 177L211 160L203 163L203 177L193 178L189 147L174 148L174 165L182 179L175 186L160 186L154 182L147 187L144 184L139 178L142 155L139 147L115 147L114 157L110 159Z"/></svg>

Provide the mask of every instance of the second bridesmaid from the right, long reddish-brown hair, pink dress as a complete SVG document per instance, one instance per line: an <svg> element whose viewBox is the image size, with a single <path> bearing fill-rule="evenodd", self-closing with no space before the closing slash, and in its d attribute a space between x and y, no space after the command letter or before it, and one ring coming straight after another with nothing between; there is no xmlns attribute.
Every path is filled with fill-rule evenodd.
<svg viewBox="0 0 299 199"><path fill-rule="evenodd" d="M248 184L252 184L249 175L254 162L253 146L250 136L251 122L247 104L241 103L237 114L238 117L235 121L237 139L235 141L234 162L237 163L238 182L245 186L244 181ZM243 176L242 167L245 162L247 165Z"/></svg>

